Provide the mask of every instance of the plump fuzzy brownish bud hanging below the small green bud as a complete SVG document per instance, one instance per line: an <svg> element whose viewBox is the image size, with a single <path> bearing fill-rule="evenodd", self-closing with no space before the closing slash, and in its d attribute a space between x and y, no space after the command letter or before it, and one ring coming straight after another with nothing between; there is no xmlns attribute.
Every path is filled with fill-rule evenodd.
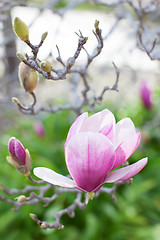
<svg viewBox="0 0 160 240"><path fill-rule="evenodd" d="M25 63L21 62L19 64L19 80L21 86L24 87L26 92L32 93L38 83L38 73Z"/></svg>

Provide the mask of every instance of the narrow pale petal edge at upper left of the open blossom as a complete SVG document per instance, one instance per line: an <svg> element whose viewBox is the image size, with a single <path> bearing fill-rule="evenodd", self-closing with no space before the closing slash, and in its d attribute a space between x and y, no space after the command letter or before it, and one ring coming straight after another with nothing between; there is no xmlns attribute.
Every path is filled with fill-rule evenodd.
<svg viewBox="0 0 160 240"><path fill-rule="evenodd" d="M70 138L77 132L80 131L80 128L84 122L84 120L88 117L88 113L85 112L83 114L81 114L72 124L72 126L69 129L68 135L67 135L67 139L65 142L65 147L67 146L68 141L70 140Z"/></svg>

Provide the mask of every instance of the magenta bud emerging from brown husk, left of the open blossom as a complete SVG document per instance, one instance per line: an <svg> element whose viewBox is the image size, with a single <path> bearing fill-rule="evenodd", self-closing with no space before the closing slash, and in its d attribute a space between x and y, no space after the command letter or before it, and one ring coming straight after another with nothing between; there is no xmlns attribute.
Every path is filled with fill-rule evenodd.
<svg viewBox="0 0 160 240"><path fill-rule="evenodd" d="M10 138L8 142L8 150L10 156L7 156L7 161L22 174L28 176L31 169L31 157L29 151L25 149L22 143L15 137Z"/></svg>

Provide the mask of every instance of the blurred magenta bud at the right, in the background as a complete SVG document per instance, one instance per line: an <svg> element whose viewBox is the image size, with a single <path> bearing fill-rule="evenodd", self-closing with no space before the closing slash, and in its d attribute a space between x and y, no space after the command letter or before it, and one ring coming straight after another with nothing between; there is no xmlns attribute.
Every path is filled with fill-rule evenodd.
<svg viewBox="0 0 160 240"><path fill-rule="evenodd" d="M147 109L151 109L153 106L152 100L151 100L152 92L151 92L151 89L148 87L147 82L144 80L141 82L140 94L141 94L141 100L144 106Z"/></svg>

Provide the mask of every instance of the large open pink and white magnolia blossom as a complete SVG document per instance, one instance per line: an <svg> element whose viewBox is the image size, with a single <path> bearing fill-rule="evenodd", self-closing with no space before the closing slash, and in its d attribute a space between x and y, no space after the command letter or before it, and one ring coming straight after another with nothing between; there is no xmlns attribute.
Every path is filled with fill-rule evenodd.
<svg viewBox="0 0 160 240"><path fill-rule="evenodd" d="M65 143L65 161L73 180L44 167L35 168L34 174L53 185L96 192L105 183L131 178L146 165L143 158L112 171L133 154L140 138L129 118L116 124L108 109L91 117L83 113L72 124Z"/></svg>

